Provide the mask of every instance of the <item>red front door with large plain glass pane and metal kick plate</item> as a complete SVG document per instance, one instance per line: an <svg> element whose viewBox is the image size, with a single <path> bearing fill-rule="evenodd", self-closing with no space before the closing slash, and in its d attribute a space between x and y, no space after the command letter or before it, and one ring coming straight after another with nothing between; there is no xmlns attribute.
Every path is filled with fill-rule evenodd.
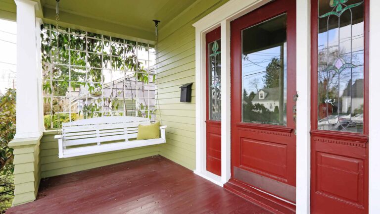
<svg viewBox="0 0 380 214"><path fill-rule="evenodd" d="M276 0L231 23L229 182L244 186L244 190L268 193L264 198L272 200L275 197L270 195L274 195L292 203L296 170L295 9L295 0Z"/></svg>

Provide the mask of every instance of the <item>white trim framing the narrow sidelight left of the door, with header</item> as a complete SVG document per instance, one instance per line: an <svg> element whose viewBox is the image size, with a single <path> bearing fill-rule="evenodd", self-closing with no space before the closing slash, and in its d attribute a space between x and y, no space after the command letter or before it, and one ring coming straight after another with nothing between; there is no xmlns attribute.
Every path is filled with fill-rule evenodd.
<svg viewBox="0 0 380 214"><path fill-rule="evenodd" d="M238 18L270 0L230 0L195 22L195 124L196 168L194 173L214 182L226 183L231 177L231 69L230 69L230 21ZM206 170L206 33L221 27L222 57L222 173L215 177Z"/></svg>

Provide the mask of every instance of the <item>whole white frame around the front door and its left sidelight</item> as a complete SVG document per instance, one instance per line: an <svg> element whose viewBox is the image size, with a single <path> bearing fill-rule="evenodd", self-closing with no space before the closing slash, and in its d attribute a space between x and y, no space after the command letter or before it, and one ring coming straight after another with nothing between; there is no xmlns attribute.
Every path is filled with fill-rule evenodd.
<svg viewBox="0 0 380 214"><path fill-rule="evenodd" d="M270 0L230 0L193 24L195 27L196 168L194 173L223 186L231 178L231 68L230 22ZM297 186L296 211L310 212L310 0L297 0ZM221 27L222 63L222 173L206 171L206 53L205 35ZM298 161L299 160L299 161Z"/></svg>

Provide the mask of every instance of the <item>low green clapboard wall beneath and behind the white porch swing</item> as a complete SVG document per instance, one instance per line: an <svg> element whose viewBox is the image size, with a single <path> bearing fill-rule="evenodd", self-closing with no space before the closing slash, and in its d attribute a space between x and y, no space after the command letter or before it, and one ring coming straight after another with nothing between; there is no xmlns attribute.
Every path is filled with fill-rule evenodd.
<svg viewBox="0 0 380 214"><path fill-rule="evenodd" d="M82 171L90 168L110 165L128 160L136 160L158 155L159 146L147 146L115 152L78 156L73 158L58 158L58 140L54 139L57 131L46 131L41 139L41 178Z"/></svg>

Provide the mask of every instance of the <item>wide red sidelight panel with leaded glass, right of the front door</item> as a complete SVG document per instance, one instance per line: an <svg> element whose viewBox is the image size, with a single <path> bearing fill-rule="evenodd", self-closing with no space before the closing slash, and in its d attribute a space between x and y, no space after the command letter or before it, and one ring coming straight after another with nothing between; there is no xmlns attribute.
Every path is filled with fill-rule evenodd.
<svg viewBox="0 0 380 214"><path fill-rule="evenodd" d="M312 0L311 213L368 213L369 0Z"/></svg>

